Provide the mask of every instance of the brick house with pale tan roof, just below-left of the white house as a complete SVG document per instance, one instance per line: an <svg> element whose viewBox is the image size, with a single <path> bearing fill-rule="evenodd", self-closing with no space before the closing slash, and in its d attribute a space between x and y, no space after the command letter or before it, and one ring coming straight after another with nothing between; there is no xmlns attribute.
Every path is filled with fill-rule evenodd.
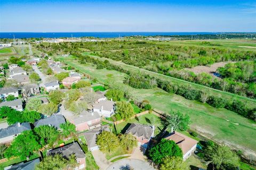
<svg viewBox="0 0 256 170"><path fill-rule="evenodd" d="M98 112L87 112L83 111L78 116L73 116L69 119L71 123L76 125L76 131L85 131L101 126L101 116Z"/></svg>

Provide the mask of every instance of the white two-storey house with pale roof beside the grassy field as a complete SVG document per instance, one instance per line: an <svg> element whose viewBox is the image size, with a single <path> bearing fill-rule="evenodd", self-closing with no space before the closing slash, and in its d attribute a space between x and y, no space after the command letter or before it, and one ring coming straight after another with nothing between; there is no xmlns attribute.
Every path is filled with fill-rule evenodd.
<svg viewBox="0 0 256 170"><path fill-rule="evenodd" d="M111 117L114 115L115 110L115 102L110 100L102 100L99 103L95 104L93 107L93 111L96 111L100 114L100 116Z"/></svg>

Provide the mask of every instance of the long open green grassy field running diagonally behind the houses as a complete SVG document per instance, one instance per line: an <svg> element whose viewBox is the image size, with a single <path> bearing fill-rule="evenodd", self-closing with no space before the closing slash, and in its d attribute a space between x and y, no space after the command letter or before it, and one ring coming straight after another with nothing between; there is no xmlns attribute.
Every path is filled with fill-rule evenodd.
<svg viewBox="0 0 256 170"><path fill-rule="evenodd" d="M155 88L138 90L123 84L125 74L115 70L97 70L91 64L80 64L74 58L59 58L61 61L75 67L82 73L97 78L100 83L114 83L129 90L138 100L147 99L155 109L169 112L171 109L188 114L191 118L191 129L209 137L215 142L226 143L246 153L255 154L256 124L235 112L226 109L217 109L197 101L186 100L182 96L169 94ZM107 76L107 75L113 76ZM223 95L223 94L222 94ZM231 94L228 94L231 96ZM247 98L245 98L247 100ZM247 100L250 102L251 100ZM254 101L251 101L253 103ZM255 104L255 103L254 103ZM239 125L235 125L238 123Z"/></svg>

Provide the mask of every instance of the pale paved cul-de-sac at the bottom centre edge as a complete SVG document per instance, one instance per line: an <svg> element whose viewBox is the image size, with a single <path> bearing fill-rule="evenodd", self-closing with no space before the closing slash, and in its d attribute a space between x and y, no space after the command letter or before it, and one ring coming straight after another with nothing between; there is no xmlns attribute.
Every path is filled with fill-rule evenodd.
<svg viewBox="0 0 256 170"><path fill-rule="evenodd" d="M118 170L122 166L130 166L134 170L154 170L154 167L151 166L147 161L138 160L138 159L121 159L111 164L106 170Z"/></svg>

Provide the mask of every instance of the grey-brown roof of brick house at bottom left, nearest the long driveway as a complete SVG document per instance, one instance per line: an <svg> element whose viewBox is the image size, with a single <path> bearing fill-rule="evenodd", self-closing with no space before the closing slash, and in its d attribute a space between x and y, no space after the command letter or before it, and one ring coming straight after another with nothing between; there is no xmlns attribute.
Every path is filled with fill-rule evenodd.
<svg viewBox="0 0 256 170"><path fill-rule="evenodd" d="M60 154L65 158L68 158L72 154L75 154L77 159L85 158L84 152L77 142L47 152L47 156L53 156L56 154Z"/></svg>

